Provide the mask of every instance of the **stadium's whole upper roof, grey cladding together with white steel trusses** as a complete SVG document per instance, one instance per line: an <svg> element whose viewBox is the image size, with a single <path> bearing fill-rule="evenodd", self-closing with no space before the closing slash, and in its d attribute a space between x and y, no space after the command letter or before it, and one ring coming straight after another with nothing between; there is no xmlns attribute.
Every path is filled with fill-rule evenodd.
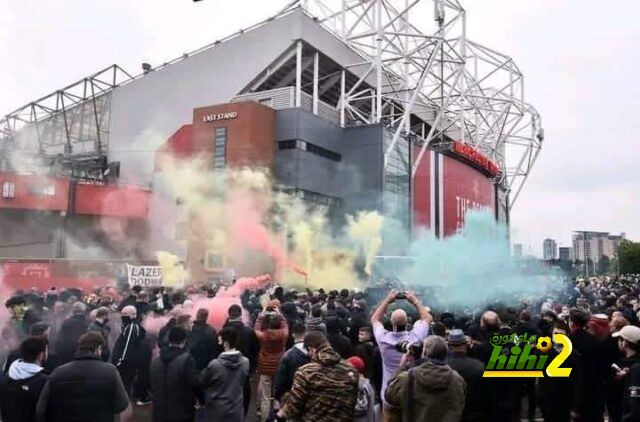
<svg viewBox="0 0 640 422"><path fill-rule="evenodd" d="M142 75L114 65L17 109L0 119L0 151L89 161L81 173L100 178L107 155L143 160L149 147L131 144L150 128L166 139L194 107L286 91L281 108L393 128L385 158L401 136L420 145L414 174L427 146L473 146L499 164L512 208L540 153L541 119L514 61L468 40L465 23L457 0L296 0Z"/></svg>

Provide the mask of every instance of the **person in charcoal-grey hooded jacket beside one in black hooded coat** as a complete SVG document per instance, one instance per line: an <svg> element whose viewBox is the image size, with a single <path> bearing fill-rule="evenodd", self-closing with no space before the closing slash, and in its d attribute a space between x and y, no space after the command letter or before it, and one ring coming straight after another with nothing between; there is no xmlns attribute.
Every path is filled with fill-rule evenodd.
<svg viewBox="0 0 640 422"><path fill-rule="evenodd" d="M249 377L249 359L236 349L238 332L223 328L218 343L223 352L200 373L204 389L205 420L242 422L244 420L243 390Z"/></svg>

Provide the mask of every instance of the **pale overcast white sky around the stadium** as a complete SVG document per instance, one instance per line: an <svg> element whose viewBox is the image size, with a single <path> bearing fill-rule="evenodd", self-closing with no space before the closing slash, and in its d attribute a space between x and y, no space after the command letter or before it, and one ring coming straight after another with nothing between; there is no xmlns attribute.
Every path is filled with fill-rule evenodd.
<svg viewBox="0 0 640 422"><path fill-rule="evenodd" d="M137 74L288 2L0 0L0 114L113 63ZM512 241L540 256L545 238L570 246L573 230L640 240L640 2L461 4L468 37L515 60L542 115L543 151L511 215Z"/></svg>

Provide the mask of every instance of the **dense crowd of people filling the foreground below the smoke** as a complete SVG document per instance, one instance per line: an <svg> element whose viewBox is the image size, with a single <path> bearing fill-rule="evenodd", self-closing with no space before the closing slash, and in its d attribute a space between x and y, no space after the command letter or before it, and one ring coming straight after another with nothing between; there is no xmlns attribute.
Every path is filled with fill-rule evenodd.
<svg viewBox="0 0 640 422"><path fill-rule="evenodd" d="M273 285L245 291L213 327L219 309L195 304L216 288L15 292L2 421L126 421L135 406L154 422L640 420L636 276L567 280L553 296L482 309ZM496 333L567 335L571 375L483 377Z"/></svg>

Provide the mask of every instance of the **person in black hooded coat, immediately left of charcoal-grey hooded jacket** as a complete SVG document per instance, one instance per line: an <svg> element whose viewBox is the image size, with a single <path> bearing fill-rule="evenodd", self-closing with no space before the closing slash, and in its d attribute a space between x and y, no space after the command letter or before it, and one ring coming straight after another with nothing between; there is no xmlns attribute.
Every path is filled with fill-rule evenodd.
<svg viewBox="0 0 640 422"><path fill-rule="evenodd" d="M187 331L169 330L169 347L151 362L153 422L190 422L195 416L199 388L198 369L185 350Z"/></svg>

